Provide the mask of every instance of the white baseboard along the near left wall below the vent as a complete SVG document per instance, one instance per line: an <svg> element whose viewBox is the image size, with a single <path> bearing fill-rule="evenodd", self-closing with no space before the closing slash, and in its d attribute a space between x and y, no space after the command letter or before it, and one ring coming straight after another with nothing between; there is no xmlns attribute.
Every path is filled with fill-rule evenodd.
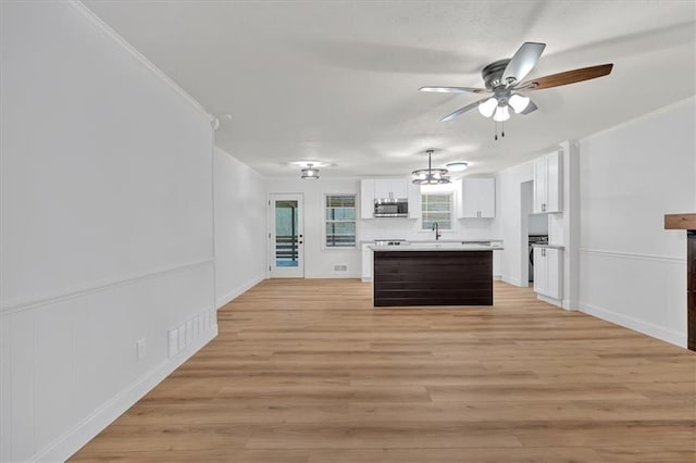
<svg viewBox="0 0 696 463"><path fill-rule="evenodd" d="M175 356L165 359L154 370L132 384L91 415L28 459L29 461L65 461L89 442L114 420L133 406L146 393L178 368L191 355L217 336L217 325L211 326L208 333L182 349Z"/></svg>

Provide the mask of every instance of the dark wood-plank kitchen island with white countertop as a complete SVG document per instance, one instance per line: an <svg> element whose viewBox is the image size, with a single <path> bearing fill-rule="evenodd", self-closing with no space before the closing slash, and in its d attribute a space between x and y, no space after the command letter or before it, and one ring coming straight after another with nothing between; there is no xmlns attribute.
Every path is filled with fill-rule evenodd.
<svg viewBox="0 0 696 463"><path fill-rule="evenodd" d="M493 251L476 243L372 247L374 306L493 305Z"/></svg>

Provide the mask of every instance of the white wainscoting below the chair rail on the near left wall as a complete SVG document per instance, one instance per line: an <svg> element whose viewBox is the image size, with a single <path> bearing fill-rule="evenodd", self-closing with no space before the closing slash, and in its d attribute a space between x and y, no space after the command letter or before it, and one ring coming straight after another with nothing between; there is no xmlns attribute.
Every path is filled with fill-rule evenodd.
<svg viewBox="0 0 696 463"><path fill-rule="evenodd" d="M170 359L170 328L214 314L212 281L209 260L3 313L2 393L12 400L3 400L11 446L1 460L69 458L147 392L144 385L157 385L212 339L214 316Z"/></svg>

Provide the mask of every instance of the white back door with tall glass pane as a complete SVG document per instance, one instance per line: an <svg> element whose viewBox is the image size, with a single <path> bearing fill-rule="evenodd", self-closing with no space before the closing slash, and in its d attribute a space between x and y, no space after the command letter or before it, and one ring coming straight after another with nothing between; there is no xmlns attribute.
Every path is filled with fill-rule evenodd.
<svg viewBox="0 0 696 463"><path fill-rule="evenodd" d="M271 278L304 277L302 195L270 196Z"/></svg>

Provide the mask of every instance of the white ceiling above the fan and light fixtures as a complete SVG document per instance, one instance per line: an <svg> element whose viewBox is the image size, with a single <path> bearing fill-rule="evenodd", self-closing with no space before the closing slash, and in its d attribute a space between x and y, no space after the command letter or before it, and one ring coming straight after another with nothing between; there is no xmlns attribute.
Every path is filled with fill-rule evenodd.
<svg viewBox="0 0 696 463"><path fill-rule="evenodd" d="M406 175L467 160L484 174L695 95L696 3L685 1L85 1L221 120L216 145L269 176ZM614 63L529 92L506 137L472 111L481 68L547 43L529 77ZM223 117L229 114L229 117Z"/></svg>

